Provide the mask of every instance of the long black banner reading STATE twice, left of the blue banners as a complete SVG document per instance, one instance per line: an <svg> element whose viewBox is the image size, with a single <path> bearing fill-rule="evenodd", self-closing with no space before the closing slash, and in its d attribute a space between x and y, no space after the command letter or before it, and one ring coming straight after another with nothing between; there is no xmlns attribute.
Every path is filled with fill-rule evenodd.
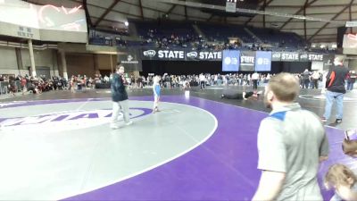
<svg viewBox="0 0 357 201"><path fill-rule="evenodd" d="M143 60L165 61L221 61L220 51L190 51L187 49L142 49Z"/></svg>

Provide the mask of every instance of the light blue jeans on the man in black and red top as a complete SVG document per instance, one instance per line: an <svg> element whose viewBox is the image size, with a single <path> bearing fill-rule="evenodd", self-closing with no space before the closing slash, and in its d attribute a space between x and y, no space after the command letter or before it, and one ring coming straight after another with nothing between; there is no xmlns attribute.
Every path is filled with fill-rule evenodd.
<svg viewBox="0 0 357 201"><path fill-rule="evenodd" d="M344 94L332 91L326 91L326 105L324 116L327 120L331 114L331 108L336 100L336 119L342 119L344 115Z"/></svg>

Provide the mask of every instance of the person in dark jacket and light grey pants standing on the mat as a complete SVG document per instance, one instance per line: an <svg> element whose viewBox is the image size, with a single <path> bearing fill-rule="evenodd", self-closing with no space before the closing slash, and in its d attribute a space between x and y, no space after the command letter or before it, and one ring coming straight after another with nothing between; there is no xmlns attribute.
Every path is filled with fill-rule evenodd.
<svg viewBox="0 0 357 201"><path fill-rule="evenodd" d="M126 90L126 80L124 78L124 67L117 66L116 72L112 74L112 129L119 129L118 116L121 111L124 115L124 121L129 126L132 121L129 120L129 100Z"/></svg>

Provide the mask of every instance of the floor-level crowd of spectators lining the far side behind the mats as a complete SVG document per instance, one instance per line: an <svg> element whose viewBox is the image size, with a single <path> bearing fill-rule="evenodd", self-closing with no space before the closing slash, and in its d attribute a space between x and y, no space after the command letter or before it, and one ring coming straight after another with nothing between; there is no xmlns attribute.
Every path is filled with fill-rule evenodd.
<svg viewBox="0 0 357 201"><path fill-rule="evenodd" d="M161 76L160 85L162 88L191 88L198 87L200 83L204 86L245 86L259 87L264 86L269 82L270 78L275 74L270 73L228 73L228 74L210 74L201 73L193 75L169 75L165 73ZM323 77L326 76L322 71L308 71L295 73L296 79L300 80L301 88L321 88ZM47 79L45 75L33 77L29 75L14 76L0 75L0 95L7 94L15 96L16 93L33 93L41 94L50 90L71 90L76 92L85 88L95 88L95 85L110 84L111 75L95 74L94 78L86 75L72 75L69 80L65 80L60 76L53 76ZM147 76L129 75L126 81L129 88L145 88L153 85L154 74ZM356 73L351 71L349 77L346 78L347 88L353 89L353 84L356 79ZM255 83L254 83L255 82Z"/></svg>

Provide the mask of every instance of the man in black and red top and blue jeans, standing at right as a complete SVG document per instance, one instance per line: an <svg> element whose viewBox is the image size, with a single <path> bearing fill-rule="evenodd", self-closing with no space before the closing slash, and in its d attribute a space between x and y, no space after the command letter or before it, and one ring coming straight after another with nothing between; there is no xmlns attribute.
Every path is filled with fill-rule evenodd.
<svg viewBox="0 0 357 201"><path fill-rule="evenodd" d="M344 56L336 56L334 66L328 71L326 80L326 105L321 121L326 122L331 114L331 108L336 100L336 123L342 122L344 114L345 79L348 69L344 66Z"/></svg>

